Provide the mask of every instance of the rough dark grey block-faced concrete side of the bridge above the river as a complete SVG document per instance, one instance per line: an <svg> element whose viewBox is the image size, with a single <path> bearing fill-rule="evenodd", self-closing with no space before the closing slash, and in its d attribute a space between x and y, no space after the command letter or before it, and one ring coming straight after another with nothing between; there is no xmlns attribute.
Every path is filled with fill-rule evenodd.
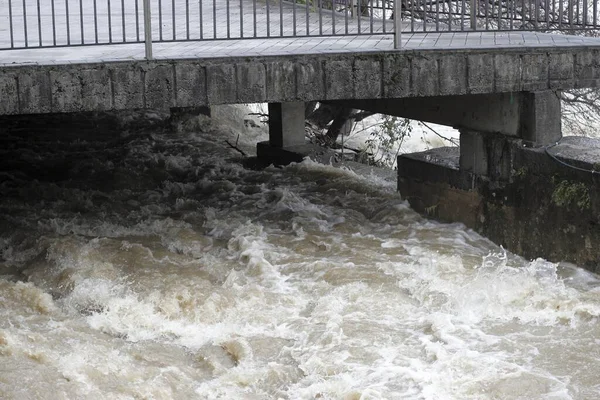
<svg viewBox="0 0 600 400"><path fill-rule="evenodd" d="M600 52L583 46L20 65L0 67L0 114L545 91L599 82Z"/></svg>

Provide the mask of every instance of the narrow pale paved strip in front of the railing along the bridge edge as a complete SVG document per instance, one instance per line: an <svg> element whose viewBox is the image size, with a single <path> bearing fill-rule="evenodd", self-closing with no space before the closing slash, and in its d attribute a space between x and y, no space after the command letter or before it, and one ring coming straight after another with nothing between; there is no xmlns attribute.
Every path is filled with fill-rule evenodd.
<svg viewBox="0 0 600 400"><path fill-rule="evenodd" d="M600 47L600 39L536 32L414 33L402 36L402 50L539 51L559 47ZM391 35L238 39L155 43L154 57L164 59L252 57L293 54L335 54L394 50ZM401 50L401 51L402 51ZM142 44L79 48L42 48L0 52L0 65L51 65L144 59Z"/></svg>

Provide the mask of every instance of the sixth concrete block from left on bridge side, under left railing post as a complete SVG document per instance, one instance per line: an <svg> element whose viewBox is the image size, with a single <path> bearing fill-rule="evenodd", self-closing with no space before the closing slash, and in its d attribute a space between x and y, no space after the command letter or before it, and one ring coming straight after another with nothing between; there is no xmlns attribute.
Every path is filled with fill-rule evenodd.
<svg viewBox="0 0 600 400"><path fill-rule="evenodd" d="M175 73L170 64L150 65L144 74L145 106L165 109L175 106Z"/></svg>

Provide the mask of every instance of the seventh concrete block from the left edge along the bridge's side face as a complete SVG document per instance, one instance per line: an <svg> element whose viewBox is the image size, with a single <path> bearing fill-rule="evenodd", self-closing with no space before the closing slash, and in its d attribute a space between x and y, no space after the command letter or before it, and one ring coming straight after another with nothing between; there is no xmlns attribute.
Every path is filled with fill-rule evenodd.
<svg viewBox="0 0 600 400"><path fill-rule="evenodd" d="M193 63L175 65L176 104L179 107L200 107L208 104L206 98L206 70Z"/></svg>

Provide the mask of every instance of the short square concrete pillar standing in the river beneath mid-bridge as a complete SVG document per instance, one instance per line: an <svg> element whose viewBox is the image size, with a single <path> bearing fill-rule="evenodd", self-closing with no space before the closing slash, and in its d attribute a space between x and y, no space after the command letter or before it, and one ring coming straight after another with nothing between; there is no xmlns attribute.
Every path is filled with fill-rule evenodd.
<svg viewBox="0 0 600 400"><path fill-rule="evenodd" d="M286 148L304 140L304 102L269 103L269 145Z"/></svg>

